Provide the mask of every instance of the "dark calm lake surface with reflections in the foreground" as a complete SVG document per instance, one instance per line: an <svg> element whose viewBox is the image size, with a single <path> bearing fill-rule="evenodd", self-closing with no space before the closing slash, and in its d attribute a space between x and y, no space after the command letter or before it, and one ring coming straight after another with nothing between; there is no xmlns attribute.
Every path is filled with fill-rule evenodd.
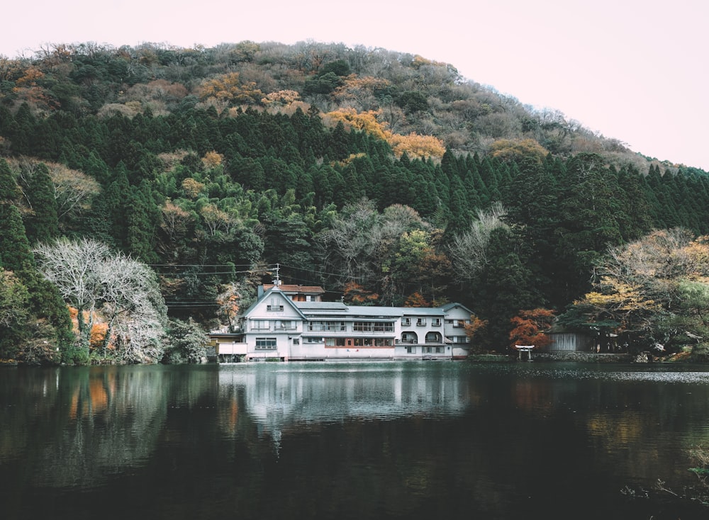
<svg viewBox="0 0 709 520"><path fill-rule="evenodd" d="M620 492L696 446L705 366L0 369L8 520L709 519Z"/></svg>

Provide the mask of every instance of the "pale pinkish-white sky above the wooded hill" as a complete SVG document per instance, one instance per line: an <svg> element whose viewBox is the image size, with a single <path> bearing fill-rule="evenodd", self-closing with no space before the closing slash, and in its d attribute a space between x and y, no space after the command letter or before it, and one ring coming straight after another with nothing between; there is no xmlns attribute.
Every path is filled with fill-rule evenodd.
<svg viewBox="0 0 709 520"><path fill-rule="evenodd" d="M7 57L89 41L316 40L419 54L635 152L709 171L706 0L35 0L2 16Z"/></svg>

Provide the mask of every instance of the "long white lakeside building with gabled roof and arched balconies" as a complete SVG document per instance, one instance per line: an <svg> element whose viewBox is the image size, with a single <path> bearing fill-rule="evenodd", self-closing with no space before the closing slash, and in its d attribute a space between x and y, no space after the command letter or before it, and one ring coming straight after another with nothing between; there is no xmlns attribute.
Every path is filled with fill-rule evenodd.
<svg viewBox="0 0 709 520"><path fill-rule="evenodd" d="M240 317L235 333L210 334L220 360L457 359L468 355L471 311L371 307L298 300L278 284Z"/></svg>

